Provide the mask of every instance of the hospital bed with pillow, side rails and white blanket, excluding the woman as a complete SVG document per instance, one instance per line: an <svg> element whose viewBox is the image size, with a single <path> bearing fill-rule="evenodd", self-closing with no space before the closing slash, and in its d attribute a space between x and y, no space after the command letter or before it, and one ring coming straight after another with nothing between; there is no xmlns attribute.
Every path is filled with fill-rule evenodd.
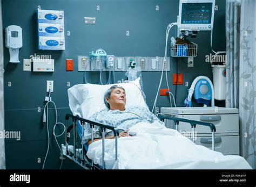
<svg viewBox="0 0 256 187"><path fill-rule="evenodd" d="M145 99L143 98L142 95L142 90L140 90L140 85L139 85L139 80L136 80L131 83L120 83L118 85L121 85L125 91L126 91L126 105L139 105L143 107L147 107L145 104ZM125 151L125 148L128 146L134 146L135 144L129 143L131 141L136 141L137 139L140 139L142 141L145 141L146 143L149 143L151 141L148 141L147 139L142 139L142 136L136 135L133 137L127 137L127 138L118 138L119 131L116 127L97 123L95 121L89 120L90 116L94 114L95 112L102 110L105 106L104 104L104 93L105 91L110 88L111 85L95 85L95 84L78 84L73 86L68 90L68 95L69 95L69 105L70 109L72 111L72 114L66 114L65 116L65 143L62 145L62 150L61 150L61 158L63 159L69 159L72 160L73 162L79 164L80 167L84 169L129 169L129 168L137 168L137 169L144 169L145 165L140 165L140 161L144 162L146 159L148 159L147 154L148 152L146 151L145 153L142 153L141 149L140 153L144 154L144 157L139 155L139 157L143 157L143 160L137 160L134 162L134 159L138 158L137 157L132 157L131 155L131 162L129 164L133 164L132 166L129 164L123 164L123 153ZM165 116L164 114L159 114L158 118L161 121L164 120L172 120L174 121L174 124L176 125L176 130L177 130L177 125L179 123L186 123L188 126L190 125L192 128L192 135L194 141L194 132L195 128L197 125L200 126L207 126L209 127L209 132L211 131L212 134L212 150L214 150L214 132L216 131L215 126L212 123L205 123L203 121L194 121L194 120L188 120L188 119L183 119L183 118L176 118L172 116ZM72 124L68 126L72 121ZM90 126L90 128L94 127L99 127L99 131L102 132L102 140L98 140L93 142L93 131L91 131L91 145L90 147L87 145L87 143L81 143L83 142L83 134L84 134L84 127L85 126ZM146 126L150 126L147 125ZM162 125L160 125L162 126ZM151 128L151 127L149 127ZM163 126L163 128L165 128ZM165 128L165 132L171 132L171 133L177 133L175 130L170 130ZM71 131L72 130L72 131ZM112 131L114 135L114 140L109 140L105 138L105 133L106 131ZM158 131L158 130L157 130ZM72 141L71 141L71 132L72 132ZM166 133L164 134L166 136ZM160 161L163 162L168 162L165 166L160 166L158 165L156 167L153 167L151 164L151 161L148 161L148 165L145 168L159 168L159 169L214 169L214 168L221 168L221 169L227 169L227 168L235 168L235 169L251 169L251 167L246 163L246 161L239 156L224 156L223 154L219 152L212 152L212 150L203 147L203 146L198 146L194 144L192 141L188 140L185 138L183 135L181 135L183 138L177 139L176 136L172 136L171 140L169 142L169 139L165 139L166 141L163 141L164 146L166 149L171 149L172 153L177 153L177 155L171 155L172 159L170 161L169 157L161 157ZM129 140L130 139L130 140ZM129 141L128 141L129 140ZM159 139L159 141L161 141ZM183 145L181 147L178 147L179 145L176 145L176 143L180 143L183 141ZM109 146L111 142L111 146ZM139 146L142 146L140 148L144 149L143 145L141 145L141 141L138 141L140 144ZM154 141L157 142L157 141ZM153 143L154 143L153 142ZM125 144L127 143L127 144ZM171 145L171 146L170 146ZM184 146L185 145L185 146ZM98 147L97 147L98 146ZM95 149L96 148L96 149ZM110 149L111 148L111 149ZM130 147L133 148L133 147ZM138 148L138 147L137 147ZM147 145L147 148L151 149L152 146L149 143ZM156 153L152 154L153 159L156 158L158 153L158 148L154 147L154 151ZM160 148L163 148L160 145ZM182 150L181 150L182 149ZM188 149L190 152L188 152ZM94 150L97 150L97 156L95 157L94 155L91 156L91 152ZM129 154L131 149L129 149ZM133 149L132 149L133 150ZM153 149L152 149L153 150ZM165 149L162 149L164 153L160 153L160 156L167 155L165 154ZM95 151L96 152L96 151ZM111 152L111 159L109 159L109 155ZM184 153L192 153L194 155L186 155L183 156ZM132 154L132 153L131 153ZM99 156L100 155L100 156ZM125 155L127 156L127 155ZM180 159L180 156L182 159ZM90 157L90 158L89 158ZM105 159L106 158L106 159ZM127 158L127 157L126 157ZM216 164L213 160L217 159L218 164ZM188 160L187 160L188 159ZM118 160L118 161L117 161ZM169 162L170 161L170 162ZM174 163L175 162L175 163ZM113 165L111 164L113 163ZM117 164L116 164L117 163ZM207 165L207 164L208 165ZM116 165L115 165L116 164ZM118 165L119 164L119 165ZM120 164L122 166L120 166ZM134 164L139 164L137 165L138 167L134 167ZM111 165L111 167L109 167ZM118 167L116 167L118 165ZM215 167L217 166L218 167ZM112 167L113 166L113 167ZM120 167L119 167L120 166ZM123 167L125 166L125 167ZM130 167L131 166L131 167ZM148 167L149 166L149 167ZM128 168L126 168L128 167ZM226 168L227 167L227 168Z"/></svg>

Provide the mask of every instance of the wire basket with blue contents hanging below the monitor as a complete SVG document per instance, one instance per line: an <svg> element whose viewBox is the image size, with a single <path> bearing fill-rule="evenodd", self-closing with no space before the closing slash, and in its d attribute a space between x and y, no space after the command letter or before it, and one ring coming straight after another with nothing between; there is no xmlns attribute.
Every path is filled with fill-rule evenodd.
<svg viewBox="0 0 256 187"><path fill-rule="evenodd" d="M187 44L172 45L171 56L196 57L197 56L197 44L192 42L192 45L187 45Z"/></svg>

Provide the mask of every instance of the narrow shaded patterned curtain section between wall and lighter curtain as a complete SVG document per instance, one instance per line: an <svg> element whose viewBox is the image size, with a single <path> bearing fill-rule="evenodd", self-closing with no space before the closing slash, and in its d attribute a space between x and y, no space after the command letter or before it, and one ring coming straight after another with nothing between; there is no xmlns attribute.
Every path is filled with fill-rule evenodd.
<svg viewBox="0 0 256 187"><path fill-rule="evenodd" d="M226 107L239 107L239 1L226 2Z"/></svg>

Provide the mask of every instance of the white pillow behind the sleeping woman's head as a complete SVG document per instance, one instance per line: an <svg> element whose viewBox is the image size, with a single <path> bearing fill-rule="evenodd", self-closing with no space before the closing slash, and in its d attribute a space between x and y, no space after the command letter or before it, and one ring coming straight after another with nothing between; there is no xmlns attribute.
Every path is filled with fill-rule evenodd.
<svg viewBox="0 0 256 187"><path fill-rule="evenodd" d="M126 92L126 106L139 105L147 107L142 96L140 77L129 83L117 84L77 84L68 89L69 106L73 116L89 118L95 112L107 108L104 103L104 93L112 85L120 85Z"/></svg>

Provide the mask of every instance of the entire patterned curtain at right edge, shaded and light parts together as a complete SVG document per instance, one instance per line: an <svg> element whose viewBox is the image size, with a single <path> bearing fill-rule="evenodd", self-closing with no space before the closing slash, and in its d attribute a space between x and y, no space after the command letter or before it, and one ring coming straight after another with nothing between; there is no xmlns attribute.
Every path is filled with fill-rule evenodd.
<svg viewBox="0 0 256 187"><path fill-rule="evenodd" d="M227 1L226 106L239 109L240 153L256 169L256 1ZM240 21L239 21L240 17Z"/></svg>

